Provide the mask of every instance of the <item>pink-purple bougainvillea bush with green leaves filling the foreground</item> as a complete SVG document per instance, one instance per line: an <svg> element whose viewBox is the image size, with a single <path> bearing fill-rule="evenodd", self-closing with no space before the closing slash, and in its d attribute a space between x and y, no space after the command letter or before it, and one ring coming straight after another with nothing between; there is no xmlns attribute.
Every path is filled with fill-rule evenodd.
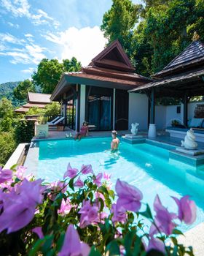
<svg viewBox="0 0 204 256"><path fill-rule="evenodd" d="M95 175L91 165L81 170L68 164L63 181L45 184L25 176L25 167L0 169L1 255L193 255L178 244L181 222L192 224L196 207L188 196L171 213L154 200L153 216L139 189L110 176ZM144 230L142 218L152 223Z"/></svg>

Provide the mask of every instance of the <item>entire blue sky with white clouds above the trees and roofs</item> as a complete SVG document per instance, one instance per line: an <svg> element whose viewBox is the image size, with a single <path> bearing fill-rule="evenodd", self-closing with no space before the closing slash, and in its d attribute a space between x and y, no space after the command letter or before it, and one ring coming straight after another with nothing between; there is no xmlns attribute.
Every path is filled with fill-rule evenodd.
<svg viewBox="0 0 204 256"><path fill-rule="evenodd" d="M140 3L140 0L133 0ZM87 65L106 43L111 0L0 0L0 83L31 78L41 59Z"/></svg>

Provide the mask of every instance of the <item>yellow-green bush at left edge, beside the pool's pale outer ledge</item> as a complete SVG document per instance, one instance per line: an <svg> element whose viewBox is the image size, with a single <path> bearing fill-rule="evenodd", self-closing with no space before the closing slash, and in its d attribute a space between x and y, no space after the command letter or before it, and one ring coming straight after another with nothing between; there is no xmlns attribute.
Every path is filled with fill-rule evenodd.
<svg viewBox="0 0 204 256"><path fill-rule="evenodd" d="M0 166L5 165L16 146L13 132L0 133Z"/></svg>

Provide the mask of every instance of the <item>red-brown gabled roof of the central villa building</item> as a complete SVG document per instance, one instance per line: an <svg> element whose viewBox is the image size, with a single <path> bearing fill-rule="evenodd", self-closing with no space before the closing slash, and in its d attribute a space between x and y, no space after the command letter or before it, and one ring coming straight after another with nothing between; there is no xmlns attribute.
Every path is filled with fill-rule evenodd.
<svg viewBox="0 0 204 256"><path fill-rule="evenodd" d="M127 54L116 40L96 56L88 67L79 72L66 72L52 93L51 100L60 100L73 84L85 84L129 90L152 81L134 72Z"/></svg>

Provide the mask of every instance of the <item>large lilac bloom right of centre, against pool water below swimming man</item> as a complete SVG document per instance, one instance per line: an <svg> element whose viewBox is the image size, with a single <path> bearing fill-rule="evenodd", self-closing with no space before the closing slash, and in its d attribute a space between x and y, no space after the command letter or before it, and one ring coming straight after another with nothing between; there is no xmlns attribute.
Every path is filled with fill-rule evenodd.
<svg viewBox="0 0 204 256"><path fill-rule="evenodd" d="M138 211L141 208L142 193L136 187L133 187L125 181L117 179L117 208L125 208L126 211Z"/></svg>

